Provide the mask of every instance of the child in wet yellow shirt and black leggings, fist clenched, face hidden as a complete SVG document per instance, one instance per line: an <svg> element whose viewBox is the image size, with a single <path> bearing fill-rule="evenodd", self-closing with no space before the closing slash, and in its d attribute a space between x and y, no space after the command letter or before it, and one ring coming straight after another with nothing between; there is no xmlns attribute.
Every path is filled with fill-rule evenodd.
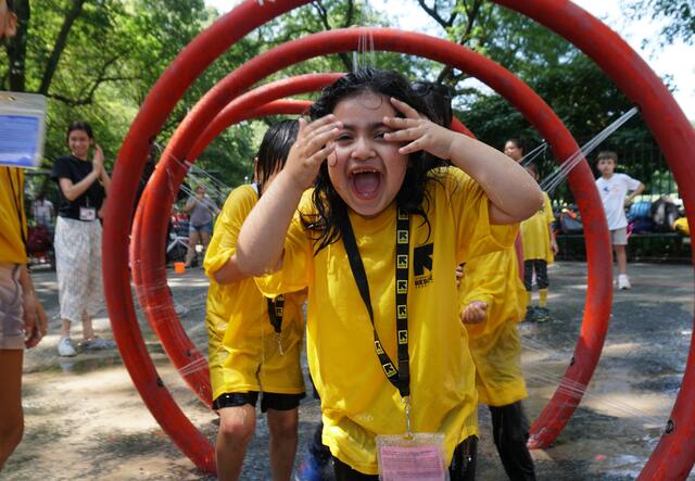
<svg viewBox="0 0 695 481"><path fill-rule="evenodd" d="M479 402L490 408L502 465L513 480L535 479L527 447L529 421L521 400L528 396L521 371L517 324L527 295L514 248L472 258L462 280L462 320L476 364Z"/></svg>

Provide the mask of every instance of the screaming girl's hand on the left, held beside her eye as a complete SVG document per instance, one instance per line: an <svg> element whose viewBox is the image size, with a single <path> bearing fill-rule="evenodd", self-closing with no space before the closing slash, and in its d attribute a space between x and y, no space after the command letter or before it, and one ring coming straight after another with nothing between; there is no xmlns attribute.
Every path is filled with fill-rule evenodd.
<svg viewBox="0 0 695 481"><path fill-rule="evenodd" d="M326 157L336 149L334 140L340 132L341 123L332 114L307 124L300 118L300 131L296 141L287 157L288 170L299 188L305 190L314 183L318 170Z"/></svg>

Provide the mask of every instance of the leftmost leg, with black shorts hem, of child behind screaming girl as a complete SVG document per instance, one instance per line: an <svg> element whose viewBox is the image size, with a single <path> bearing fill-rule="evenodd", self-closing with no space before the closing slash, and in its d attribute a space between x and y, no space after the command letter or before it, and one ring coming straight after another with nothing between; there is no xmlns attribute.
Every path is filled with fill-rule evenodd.
<svg viewBox="0 0 695 481"><path fill-rule="evenodd" d="M232 393L215 400L224 406L218 409L219 432L215 446L219 480L238 480L241 474L247 446L256 429L256 398L257 393Z"/></svg>

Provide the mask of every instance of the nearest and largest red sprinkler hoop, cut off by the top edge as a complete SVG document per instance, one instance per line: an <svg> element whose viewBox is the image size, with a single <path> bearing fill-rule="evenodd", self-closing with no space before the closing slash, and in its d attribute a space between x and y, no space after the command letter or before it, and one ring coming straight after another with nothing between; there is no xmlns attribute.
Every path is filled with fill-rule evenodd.
<svg viewBox="0 0 695 481"><path fill-rule="evenodd" d="M555 0L507 0L498 1L515 8L569 38L587 54L597 60L606 72L626 91L631 99L643 109L644 118L652 128L667 160L673 168L677 181L681 186L688 220L693 223L693 173L688 173L688 152L695 147L695 135L682 112L669 94L658 77L642 62L636 54L605 25L586 12L567 1ZM127 282L126 241L128 235L129 212L135 198L135 189L148 153L148 139L153 138L163 126L174 104L202 71L214 61L226 48L268 20L296 7L304 1L266 2L261 5L247 1L201 34L185 49L172 67L154 86L142 109L132 124L130 134L122 148L114 172L113 197L123 198L123 202L111 202L106 207L110 219L105 226L104 249L110 256L104 257L104 275L106 299L110 316L114 324L116 341L124 353L124 362L140 393L152 408L156 403L162 409L154 413L163 422L167 432L175 428L162 410L172 408L180 414L168 392L159 385L156 371L148 363L147 351L141 342L141 334L135 318L132 301ZM596 39L602 41L598 42ZM590 273L591 283L591 273ZM580 338L586 336L582 331ZM139 341L139 342L138 342ZM695 339L693 339L695 343ZM147 359L147 360L146 360ZM139 369L138 362L144 360ZM648 479L684 478L693 465L695 457L695 422L691 406L695 395L695 350L691 347L688 364L683 385L672 413L673 429L668 430L657 450L650 457L643 477ZM141 388L141 389L140 389ZM178 443L177 443L178 444ZM191 443L194 444L194 443ZM179 444L180 447L180 444ZM186 451L186 450L185 450ZM205 468L205 459L191 456L197 465ZM208 465L208 464L207 464Z"/></svg>

